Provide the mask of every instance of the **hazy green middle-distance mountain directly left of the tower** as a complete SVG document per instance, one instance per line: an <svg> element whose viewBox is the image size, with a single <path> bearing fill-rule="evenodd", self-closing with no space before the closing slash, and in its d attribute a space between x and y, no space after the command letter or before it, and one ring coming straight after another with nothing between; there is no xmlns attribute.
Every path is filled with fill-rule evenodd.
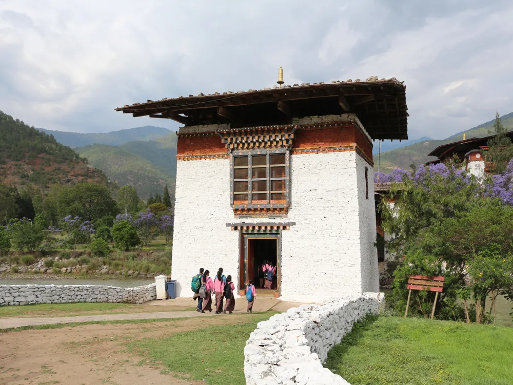
<svg viewBox="0 0 513 385"><path fill-rule="evenodd" d="M176 148L161 148L154 141L135 141L122 146L94 144L75 150L87 158L89 164L105 172L112 181L121 186L134 186L141 198L146 199L157 192L162 196L165 184L171 196L174 196Z"/></svg>

